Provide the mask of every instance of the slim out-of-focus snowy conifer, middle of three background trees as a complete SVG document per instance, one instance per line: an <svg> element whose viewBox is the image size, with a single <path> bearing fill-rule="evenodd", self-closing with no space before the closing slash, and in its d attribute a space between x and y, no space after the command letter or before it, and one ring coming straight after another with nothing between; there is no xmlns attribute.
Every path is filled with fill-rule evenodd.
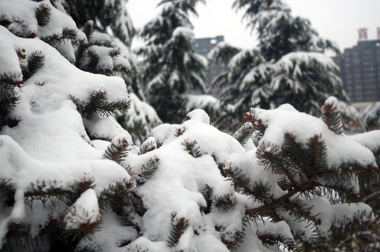
<svg viewBox="0 0 380 252"><path fill-rule="evenodd" d="M143 80L148 101L164 122L176 122L187 111L186 95L204 93L206 59L195 53L195 39L189 13L197 15L198 1L161 1L160 16L148 22L141 36L146 47L139 50L144 57ZM203 2L203 1L201 1Z"/></svg>

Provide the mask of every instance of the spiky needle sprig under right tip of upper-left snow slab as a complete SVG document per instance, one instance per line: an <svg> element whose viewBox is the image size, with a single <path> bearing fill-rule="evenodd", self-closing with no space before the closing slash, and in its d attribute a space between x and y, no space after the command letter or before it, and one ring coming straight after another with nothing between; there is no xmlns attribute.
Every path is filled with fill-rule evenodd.
<svg viewBox="0 0 380 252"><path fill-rule="evenodd" d="M108 117L113 113L122 113L129 109L129 101L127 100L108 102L107 91L104 89L92 91L88 102L83 102L73 95L70 95L70 99L76 104L78 112L85 118L92 118L94 113Z"/></svg>

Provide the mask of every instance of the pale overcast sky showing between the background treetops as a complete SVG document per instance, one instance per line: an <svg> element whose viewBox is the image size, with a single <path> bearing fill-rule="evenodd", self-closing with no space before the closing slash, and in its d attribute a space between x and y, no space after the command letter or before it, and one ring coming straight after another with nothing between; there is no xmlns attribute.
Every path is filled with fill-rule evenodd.
<svg viewBox="0 0 380 252"><path fill-rule="evenodd" d="M143 27L159 12L158 0L129 0L128 10L136 28ZM225 36L241 48L256 45L254 34L241 22L242 12L232 10L234 0L206 0L198 4L198 17L191 17L195 37ZM341 50L356 45L358 29L366 27L368 38L377 38L380 27L380 0L285 0L293 15L308 18L320 36L335 41ZM139 42L137 42L139 43Z"/></svg>

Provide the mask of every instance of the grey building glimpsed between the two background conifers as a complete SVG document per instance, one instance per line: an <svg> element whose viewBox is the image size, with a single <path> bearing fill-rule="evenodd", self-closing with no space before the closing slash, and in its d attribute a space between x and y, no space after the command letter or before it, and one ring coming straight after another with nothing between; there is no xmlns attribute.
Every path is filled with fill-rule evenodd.
<svg viewBox="0 0 380 252"><path fill-rule="evenodd" d="M224 41L224 36L216 36L215 38L197 38L195 39L195 51L207 57L209 52L215 48L215 46ZM206 76L206 87L209 88L213 79L220 73L226 71L227 68L223 64L215 64L215 62L209 62L209 71ZM209 94L218 97L218 87L213 87L209 90Z"/></svg>

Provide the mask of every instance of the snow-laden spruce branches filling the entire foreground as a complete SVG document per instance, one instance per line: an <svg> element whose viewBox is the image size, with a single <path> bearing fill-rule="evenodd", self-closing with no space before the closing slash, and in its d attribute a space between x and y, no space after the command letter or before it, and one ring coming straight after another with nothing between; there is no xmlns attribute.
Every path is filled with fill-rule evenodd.
<svg viewBox="0 0 380 252"><path fill-rule="evenodd" d="M339 120L326 118L339 113L326 108L336 99L321 118L287 104L250 109L233 137L209 125L205 111L188 111L189 120L158 125L138 148L113 119L129 107L124 81L112 76L118 69L80 70L13 21L0 23L9 62L0 64L2 250L323 251L333 229L374 223L359 185L379 176L372 152L380 133L335 131Z"/></svg>

